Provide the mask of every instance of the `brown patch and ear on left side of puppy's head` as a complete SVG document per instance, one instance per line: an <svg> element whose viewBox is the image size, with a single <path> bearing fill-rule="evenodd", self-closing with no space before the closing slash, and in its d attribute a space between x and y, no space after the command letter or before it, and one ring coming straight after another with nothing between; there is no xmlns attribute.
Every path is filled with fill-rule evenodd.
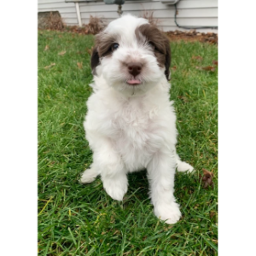
<svg viewBox="0 0 256 256"><path fill-rule="evenodd" d="M112 55L112 45L116 42L116 37L108 35L106 32L101 32L96 35L96 45L90 59L93 74L96 74L95 68L100 64L100 58Z"/></svg>

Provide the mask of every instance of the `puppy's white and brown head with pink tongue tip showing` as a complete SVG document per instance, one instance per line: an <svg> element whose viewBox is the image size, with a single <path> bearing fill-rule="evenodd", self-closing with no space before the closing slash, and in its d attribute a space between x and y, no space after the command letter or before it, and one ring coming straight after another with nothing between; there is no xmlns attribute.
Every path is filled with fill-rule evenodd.
<svg viewBox="0 0 256 256"><path fill-rule="evenodd" d="M168 38L148 20L124 15L96 36L91 68L115 90L145 92L170 77Z"/></svg>

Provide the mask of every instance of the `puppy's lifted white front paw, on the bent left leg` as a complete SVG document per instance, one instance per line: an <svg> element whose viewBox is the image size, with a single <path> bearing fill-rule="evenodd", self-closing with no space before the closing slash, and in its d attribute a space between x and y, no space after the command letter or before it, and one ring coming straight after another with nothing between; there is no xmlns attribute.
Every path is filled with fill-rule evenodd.
<svg viewBox="0 0 256 256"><path fill-rule="evenodd" d="M105 179L103 181L104 189L113 200L123 201L123 198L128 190L127 177L123 180L119 179Z"/></svg>

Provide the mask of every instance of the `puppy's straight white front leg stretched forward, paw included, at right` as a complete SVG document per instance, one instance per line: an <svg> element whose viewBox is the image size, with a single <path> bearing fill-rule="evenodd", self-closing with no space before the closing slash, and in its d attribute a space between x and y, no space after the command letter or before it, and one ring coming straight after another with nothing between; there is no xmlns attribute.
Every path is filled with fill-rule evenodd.
<svg viewBox="0 0 256 256"><path fill-rule="evenodd" d="M154 155L148 165L150 197L154 214L167 224L175 224L181 218L179 206L174 198L175 156L163 152Z"/></svg>

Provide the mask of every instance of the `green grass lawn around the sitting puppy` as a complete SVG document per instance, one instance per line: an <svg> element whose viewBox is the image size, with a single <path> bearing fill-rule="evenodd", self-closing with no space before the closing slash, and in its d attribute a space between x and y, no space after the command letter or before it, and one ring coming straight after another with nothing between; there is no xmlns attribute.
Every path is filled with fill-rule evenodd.
<svg viewBox="0 0 256 256"><path fill-rule="evenodd" d="M122 203L104 192L99 178L87 186L78 183L91 163L82 122L91 93L93 37L38 32L37 38L38 255L218 255L218 67L196 69L218 60L218 47L172 43L177 151L197 172L177 174L183 218L168 226L154 217L146 172L129 176ZM202 168L214 172L214 189L201 188Z"/></svg>

